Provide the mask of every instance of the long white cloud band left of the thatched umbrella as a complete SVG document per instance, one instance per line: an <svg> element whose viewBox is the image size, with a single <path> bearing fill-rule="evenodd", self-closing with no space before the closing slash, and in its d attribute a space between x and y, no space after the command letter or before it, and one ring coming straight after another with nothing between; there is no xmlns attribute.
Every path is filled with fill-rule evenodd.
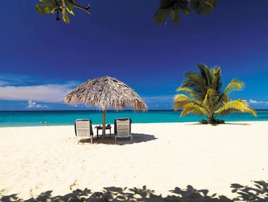
<svg viewBox="0 0 268 202"><path fill-rule="evenodd" d="M0 86L2 100L34 100L43 102L61 102L67 92L74 88L74 83L27 85L27 86Z"/></svg>

